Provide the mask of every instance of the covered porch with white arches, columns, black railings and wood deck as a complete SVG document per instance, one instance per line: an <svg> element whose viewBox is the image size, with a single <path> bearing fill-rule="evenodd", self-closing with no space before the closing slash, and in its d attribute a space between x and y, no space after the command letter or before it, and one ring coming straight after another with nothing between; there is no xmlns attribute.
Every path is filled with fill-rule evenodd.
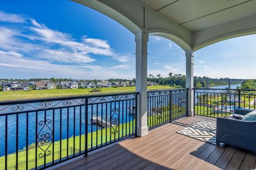
<svg viewBox="0 0 256 170"><path fill-rule="evenodd" d="M240 96L247 93L229 92L227 98L225 89L215 95L194 88L194 52L256 33L255 0L74 1L106 14L134 34L136 92L0 103L3 169L256 168L255 153L176 133L195 122L229 115L230 106L237 101L238 107L242 106ZM150 35L170 39L184 50L186 88L147 91ZM198 94L204 97L197 98ZM255 94L253 97L255 100ZM213 110L211 101L216 98ZM244 108L247 106L255 109L255 103L244 101ZM26 131L19 129L22 117ZM12 131L10 122L15 124ZM23 141L26 147L20 151L18 144ZM29 149L32 142L35 144Z"/></svg>

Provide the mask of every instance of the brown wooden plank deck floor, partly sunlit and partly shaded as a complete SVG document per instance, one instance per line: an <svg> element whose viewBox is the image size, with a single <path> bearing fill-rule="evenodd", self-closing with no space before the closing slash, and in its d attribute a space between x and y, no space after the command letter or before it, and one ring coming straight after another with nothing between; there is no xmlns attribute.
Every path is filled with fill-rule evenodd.
<svg viewBox="0 0 256 170"><path fill-rule="evenodd" d="M198 119L180 118L150 130L145 137L126 139L56 169L256 169L252 152L175 133Z"/></svg>

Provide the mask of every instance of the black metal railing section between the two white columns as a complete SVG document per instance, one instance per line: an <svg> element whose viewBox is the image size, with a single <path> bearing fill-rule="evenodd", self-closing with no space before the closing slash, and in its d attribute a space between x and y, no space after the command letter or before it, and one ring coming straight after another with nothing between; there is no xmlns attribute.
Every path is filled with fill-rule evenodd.
<svg viewBox="0 0 256 170"><path fill-rule="evenodd" d="M148 127L188 115L188 89L148 91Z"/></svg>

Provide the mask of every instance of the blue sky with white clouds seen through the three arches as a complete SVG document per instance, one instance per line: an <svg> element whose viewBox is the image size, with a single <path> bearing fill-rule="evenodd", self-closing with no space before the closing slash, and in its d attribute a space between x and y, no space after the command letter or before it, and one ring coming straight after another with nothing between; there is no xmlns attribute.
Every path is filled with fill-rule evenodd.
<svg viewBox="0 0 256 170"><path fill-rule="evenodd" d="M116 21L72 1L0 2L0 78L135 77L134 35ZM256 35L195 52L195 75L256 78ZM150 36L148 74L185 74L185 52Z"/></svg>

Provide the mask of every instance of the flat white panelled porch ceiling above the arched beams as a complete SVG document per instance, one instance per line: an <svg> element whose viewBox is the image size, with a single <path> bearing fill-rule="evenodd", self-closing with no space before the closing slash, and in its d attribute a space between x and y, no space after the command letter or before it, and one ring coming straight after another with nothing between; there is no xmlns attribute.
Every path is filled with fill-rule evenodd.
<svg viewBox="0 0 256 170"><path fill-rule="evenodd" d="M190 31L256 15L256 0L140 0Z"/></svg>

